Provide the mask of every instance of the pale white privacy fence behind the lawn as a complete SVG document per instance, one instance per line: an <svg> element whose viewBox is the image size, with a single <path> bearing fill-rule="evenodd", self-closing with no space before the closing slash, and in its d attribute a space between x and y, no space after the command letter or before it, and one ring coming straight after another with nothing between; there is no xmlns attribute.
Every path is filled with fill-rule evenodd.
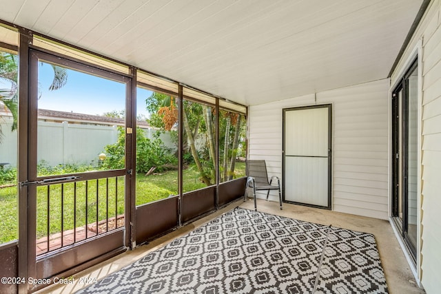
<svg viewBox="0 0 441 294"><path fill-rule="evenodd" d="M17 131L11 132L12 119L0 118L3 136L0 144L0 162L17 166ZM110 125L80 125L74 123L38 122L37 158L50 166L98 162L106 145L116 143L118 127ZM144 129L146 138L153 139L156 129ZM170 134L161 134L168 148L176 148Z"/></svg>

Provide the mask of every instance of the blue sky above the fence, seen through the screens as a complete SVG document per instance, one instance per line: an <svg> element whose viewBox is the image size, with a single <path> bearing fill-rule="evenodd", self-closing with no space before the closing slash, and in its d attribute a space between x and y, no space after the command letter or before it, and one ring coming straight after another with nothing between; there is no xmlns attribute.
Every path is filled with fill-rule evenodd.
<svg viewBox="0 0 441 294"><path fill-rule="evenodd" d="M105 78L68 70L68 83L59 90L48 90L54 73L52 67L43 63L39 66L40 109L81 114L98 114L125 109L125 84ZM136 98L137 114L148 117L145 98L152 94L138 88Z"/></svg>

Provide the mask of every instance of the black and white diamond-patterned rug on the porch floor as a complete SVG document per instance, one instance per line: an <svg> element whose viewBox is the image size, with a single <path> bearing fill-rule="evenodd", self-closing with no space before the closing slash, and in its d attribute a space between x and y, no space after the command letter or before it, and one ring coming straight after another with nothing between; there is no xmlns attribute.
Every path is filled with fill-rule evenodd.
<svg viewBox="0 0 441 294"><path fill-rule="evenodd" d="M373 235L236 208L78 293L388 293Z"/></svg>

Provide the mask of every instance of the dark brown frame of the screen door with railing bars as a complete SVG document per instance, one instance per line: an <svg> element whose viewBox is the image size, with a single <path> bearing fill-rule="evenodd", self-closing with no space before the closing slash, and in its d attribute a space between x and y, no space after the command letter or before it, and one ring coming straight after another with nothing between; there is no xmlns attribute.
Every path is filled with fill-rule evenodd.
<svg viewBox="0 0 441 294"><path fill-rule="evenodd" d="M21 36L21 40L26 38ZM126 110L126 144L125 144L125 168L121 170L113 171L96 171L86 174L77 174L81 176L82 180L93 180L103 177L124 176L125 177L125 227L122 230L116 230L113 233L105 234L105 236L92 238L92 241L85 241L77 244L78 246L69 246L68 249L61 249L54 253L45 255L45 258L37 258L35 246L36 246L36 222L37 222L37 186L36 185L19 185L19 276L24 277L25 280L29 278L39 277L37 273L41 271L41 267L45 266L47 259L54 262L54 268L57 270L63 269L63 266L56 266L55 264L63 264L63 256L67 254L68 259L74 260L70 262L70 267L63 269L63 275L69 275L81 269L86 269L91 264L100 262L112 255L116 255L127 250L130 246L130 240L132 235L132 214L134 196L132 197L132 166L134 164L134 158L132 149L135 145L134 136L136 132L132 132L134 129L134 122L136 118L132 118L135 115L134 101L136 91L132 90L132 76L121 74L119 72L112 72L93 65L84 63L83 61L68 58L54 52L45 52L38 48L32 48L32 46L23 44L24 48L20 48L20 96L19 96L19 182L21 184L26 182L34 182L36 180L43 180L52 177L39 177L37 175L37 76L38 76L38 60L43 57L43 60L64 65L74 70L80 70L89 74L96 74L103 78L110 78L114 81L125 83L125 110ZM24 55L23 55L24 54ZM23 70L24 69L24 70ZM66 175L70 176L70 175ZM98 239L103 240L98 240ZM92 244L95 244L93 245ZM100 246L100 242L104 242L105 245ZM78 254L74 253L75 250L93 251L95 253L86 254L86 259L78 258ZM63 253L64 252L64 253ZM64 255L63 255L64 254ZM69 264L67 262L67 264ZM39 270L40 269L40 270ZM54 277L59 275L59 272L50 273L48 277ZM41 273L39 273L41 275ZM45 277L39 277L45 278ZM27 293L28 291L36 291L41 288L42 285L19 285L20 293ZM44 286L44 285L43 285Z"/></svg>

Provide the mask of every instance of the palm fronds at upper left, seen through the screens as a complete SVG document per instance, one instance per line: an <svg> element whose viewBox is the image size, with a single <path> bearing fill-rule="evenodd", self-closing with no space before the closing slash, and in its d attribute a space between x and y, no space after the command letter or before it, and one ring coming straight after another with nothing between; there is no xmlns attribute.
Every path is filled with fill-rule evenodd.
<svg viewBox="0 0 441 294"><path fill-rule="evenodd" d="M42 63L41 63L42 64ZM68 82L68 73L64 67L52 65L54 79L49 86L49 90L58 90ZM12 114L11 132L17 129L18 120L18 81L19 81L19 56L0 51L0 80L10 83L9 89L0 89L0 107L8 110ZM0 135L2 134L0 125ZM0 137L1 143L1 137Z"/></svg>

